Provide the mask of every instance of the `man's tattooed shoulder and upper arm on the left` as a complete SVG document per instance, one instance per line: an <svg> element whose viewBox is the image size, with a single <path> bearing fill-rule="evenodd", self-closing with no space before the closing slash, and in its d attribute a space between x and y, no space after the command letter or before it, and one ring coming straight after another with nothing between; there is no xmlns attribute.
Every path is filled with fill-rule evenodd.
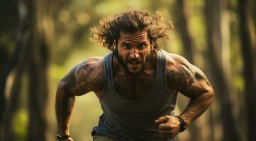
<svg viewBox="0 0 256 141"><path fill-rule="evenodd" d="M100 91L103 87L103 57L91 57L86 59L65 75L62 82L74 95L85 94L90 91Z"/></svg>

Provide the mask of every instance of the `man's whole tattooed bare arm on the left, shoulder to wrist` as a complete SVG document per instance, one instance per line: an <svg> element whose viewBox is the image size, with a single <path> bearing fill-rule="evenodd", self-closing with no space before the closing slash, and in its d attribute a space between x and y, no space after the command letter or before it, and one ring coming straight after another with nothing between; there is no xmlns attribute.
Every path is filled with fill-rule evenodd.
<svg viewBox="0 0 256 141"><path fill-rule="evenodd" d="M69 122L75 96L91 91L100 92L103 89L103 79L100 59L88 59L72 68L62 78L55 99L58 135L69 135Z"/></svg>

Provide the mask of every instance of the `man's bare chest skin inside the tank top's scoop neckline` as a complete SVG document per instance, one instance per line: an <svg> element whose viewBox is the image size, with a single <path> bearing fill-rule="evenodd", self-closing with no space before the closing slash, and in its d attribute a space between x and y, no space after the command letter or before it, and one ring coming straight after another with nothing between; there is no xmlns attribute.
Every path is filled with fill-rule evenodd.
<svg viewBox="0 0 256 141"><path fill-rule="evenodd" d="M147 78L126 78L115 76L113 83L118 94L127 99L143 99L150 93L155 82L154 76Z"/></svg>

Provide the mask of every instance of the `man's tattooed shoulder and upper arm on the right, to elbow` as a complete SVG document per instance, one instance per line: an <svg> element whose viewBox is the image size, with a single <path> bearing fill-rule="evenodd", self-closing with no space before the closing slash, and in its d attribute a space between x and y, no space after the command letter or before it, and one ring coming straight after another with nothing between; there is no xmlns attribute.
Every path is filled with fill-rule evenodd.
<svg viewBox="0 0 256 141"><path fill-rule="evenodd" d="M213 93L211 83L203 71L177 54L167 55L167 85L187 97L197 97L204 92Z"/></svg>

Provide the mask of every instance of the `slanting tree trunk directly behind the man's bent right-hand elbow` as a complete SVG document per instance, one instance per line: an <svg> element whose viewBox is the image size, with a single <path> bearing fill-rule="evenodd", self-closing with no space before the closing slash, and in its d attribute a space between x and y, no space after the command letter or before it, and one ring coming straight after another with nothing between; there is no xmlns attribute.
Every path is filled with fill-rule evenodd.
<svg viewBox="0 0 256 141"><path fill-rule="evenodd" d="M221 39L221 11L220 1L206 0L205 2L205 20L207 32L207 59L208 67L211 71L213 86L215 87L216 98L221 102L221 121L223 128L223 140L238 141L238 132L235 128L235 119L232 113L230 102L230 90L228 79L223 71L221 64L222 51Z"/></svg>

